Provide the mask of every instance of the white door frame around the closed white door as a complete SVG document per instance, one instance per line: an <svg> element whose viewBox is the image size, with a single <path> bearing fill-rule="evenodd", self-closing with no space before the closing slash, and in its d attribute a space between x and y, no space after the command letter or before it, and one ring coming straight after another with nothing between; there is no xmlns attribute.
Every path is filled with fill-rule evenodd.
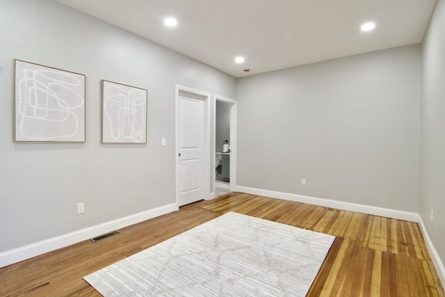
<svg viewBox="0 0 445 297"><path fill-rule="evenodd" d="M179 93L191 94L202 97L204 101L204 199L209 200L211 197L211 102L210 93L202 90L188 88L186 86L175 85L175 159L176 159L176 207L179 209ZM213 170L214 171L214 170ZM214 173L213 173L214 175Z"/></svg>

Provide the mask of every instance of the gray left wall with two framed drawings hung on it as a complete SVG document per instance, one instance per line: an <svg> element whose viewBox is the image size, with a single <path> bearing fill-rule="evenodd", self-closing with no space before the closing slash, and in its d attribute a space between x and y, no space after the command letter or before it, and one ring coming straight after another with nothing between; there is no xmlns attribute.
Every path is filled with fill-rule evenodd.
<svg viewBox="0 0 445 297"><path fill-rule="evenodd" d="M53 1L1 0L0 22L0 252L175 202L175 84L236 79ZM86 143L13 143L13 58L86 74ZM148 90L147 145L100 144L101 79Z"/></svg>

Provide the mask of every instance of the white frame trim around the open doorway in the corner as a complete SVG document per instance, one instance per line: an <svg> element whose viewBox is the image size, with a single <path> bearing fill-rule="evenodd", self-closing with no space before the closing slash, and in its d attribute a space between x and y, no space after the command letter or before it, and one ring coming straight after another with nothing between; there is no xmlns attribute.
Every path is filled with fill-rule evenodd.
<svg viewBox="0 0 445 297"><path fill-rule="evenodd" d="M214 95L213 96L213 113L212 113L212 127L213 127L213 133L212 133L212 163L211 168L213 168L211 172L211 179L212 179L212 195L215 197L216 195L216 173L215 173L215 156L216 156L216 102L224 102L227 104L230 104L230 191L234 192L236 191L236 160L237 160L237 139L238 136L236 134L237 129L237 114L238 114L238 104L236 100L229 99L227 97L223 97L220 95Z"/></svg>

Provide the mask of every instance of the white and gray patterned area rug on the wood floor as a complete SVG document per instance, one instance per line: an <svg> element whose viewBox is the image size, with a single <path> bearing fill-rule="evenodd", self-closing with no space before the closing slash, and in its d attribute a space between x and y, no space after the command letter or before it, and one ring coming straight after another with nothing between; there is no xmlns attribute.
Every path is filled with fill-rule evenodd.
<svg viewBox="0 0 445 297"><path fill-rule="evenodd" d="M230 212L83 279L103 296L305 296L334 239Z"/></svg>

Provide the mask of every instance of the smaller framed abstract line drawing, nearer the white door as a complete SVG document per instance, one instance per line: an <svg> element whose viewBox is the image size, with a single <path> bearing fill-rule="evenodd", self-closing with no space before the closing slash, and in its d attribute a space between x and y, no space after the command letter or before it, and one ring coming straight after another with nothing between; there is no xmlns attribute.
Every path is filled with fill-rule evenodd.
<svg viewBox="0 0 445 297"><path fill-rule="evenodd" d="M147 143L147 90L102 80L102 143Z"/></svg>

